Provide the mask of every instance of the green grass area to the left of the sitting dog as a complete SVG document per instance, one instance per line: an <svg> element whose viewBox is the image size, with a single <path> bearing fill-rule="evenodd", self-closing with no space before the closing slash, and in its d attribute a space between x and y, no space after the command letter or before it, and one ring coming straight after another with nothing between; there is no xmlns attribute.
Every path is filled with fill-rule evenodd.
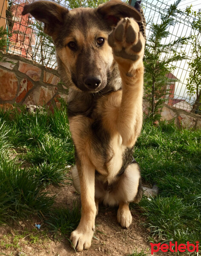
<svg viewBox="0 0 201 256"><path fill-rule="evenodd" d="M49 215L54 198L43 192L44 186L65 182L73 163L65 105L54 113L0 110L0 223Z"/></svg>

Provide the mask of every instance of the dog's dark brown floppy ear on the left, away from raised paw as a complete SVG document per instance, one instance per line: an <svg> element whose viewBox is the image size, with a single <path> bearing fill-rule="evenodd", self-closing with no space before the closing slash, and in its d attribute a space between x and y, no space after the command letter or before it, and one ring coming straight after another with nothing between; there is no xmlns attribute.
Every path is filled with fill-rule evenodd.
<svg viewBox="0 0 201 256"><path fill-rule="evenodd" d="M50 1L36 1L24 6L22 15L30 13L34 18L45 23L44 32L54 36L69 10Z"/></svg>

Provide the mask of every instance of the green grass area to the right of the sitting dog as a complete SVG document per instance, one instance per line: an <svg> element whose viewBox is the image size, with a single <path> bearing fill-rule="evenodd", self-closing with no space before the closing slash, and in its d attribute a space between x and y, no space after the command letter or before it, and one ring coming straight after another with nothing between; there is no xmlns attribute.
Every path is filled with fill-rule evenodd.
<svg viewBox="0 0 201 256"><path fill-rule="evenodd" d="M134 156L160 194L140 203L155 241L195 242L201 234L201 130L144 123Z"/></svg>

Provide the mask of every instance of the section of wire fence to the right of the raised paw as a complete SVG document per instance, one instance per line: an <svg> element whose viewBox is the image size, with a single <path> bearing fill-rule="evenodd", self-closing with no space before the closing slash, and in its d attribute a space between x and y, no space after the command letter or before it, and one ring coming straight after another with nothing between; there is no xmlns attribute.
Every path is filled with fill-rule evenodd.
<svg viewBox="0 0 201 256"><path fill-rule="evenodd" d="M144 15L146 19L146 34L147 38L149 38L150 35L150 28L152 26L152 23L160 23L161 14L167 13L167 8L169 8L169 2L171 0L143 0L143 7L144 7ZM189 3L190 1L188 1ZM186 2L187 3L187 2ZM182 4L184 11L184 6L186 4ZM187 5L186 5L187 6ZM190 3L189 3L190 6ZM201 4L200 4L201 8ZM178 15L176 18L175 26L169 27L170 35L166 39L162 41L162 43L168 43L169 41L174 41L178 38L186 37L188 38L191 35L192 32L192 20L186 18L186 15L183 13L181 15ZM199 38L199 41L201 38ZM174 65L174 73L172 78L178 79L178 81L175 82L175 84L172 82L172 84L167 88L169 89L169 93L166 96L167 98L167 104L173 105L176 108L181 108L186 111L191 111L192 106L195 104L195 96L189 96L187 93L187 81L190 75L190 67L189 63L193 61L195 58L192 53L192 41L191 39L187 40L187 44L184 45L183 48L178 49L179 52L185 51L187 58L182 61L177 61L172 63ZM171 55L171 52L169 52L169 55ZM197 102L198 103L198 102ZM201 114L201 111L196 111L197 113Z"/></svg>

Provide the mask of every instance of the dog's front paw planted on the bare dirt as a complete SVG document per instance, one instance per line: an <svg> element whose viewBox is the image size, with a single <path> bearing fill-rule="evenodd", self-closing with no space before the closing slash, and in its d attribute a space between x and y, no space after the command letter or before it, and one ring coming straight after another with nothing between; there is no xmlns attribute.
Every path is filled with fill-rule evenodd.
<svg viewBox="0 0 201 256"><path fill-rule="evenodd" d="M93 230L82 231L77 228L71 233L70 240L75 249L81 252L83 249L89 249L91 247L93 234Z"/></svg>

